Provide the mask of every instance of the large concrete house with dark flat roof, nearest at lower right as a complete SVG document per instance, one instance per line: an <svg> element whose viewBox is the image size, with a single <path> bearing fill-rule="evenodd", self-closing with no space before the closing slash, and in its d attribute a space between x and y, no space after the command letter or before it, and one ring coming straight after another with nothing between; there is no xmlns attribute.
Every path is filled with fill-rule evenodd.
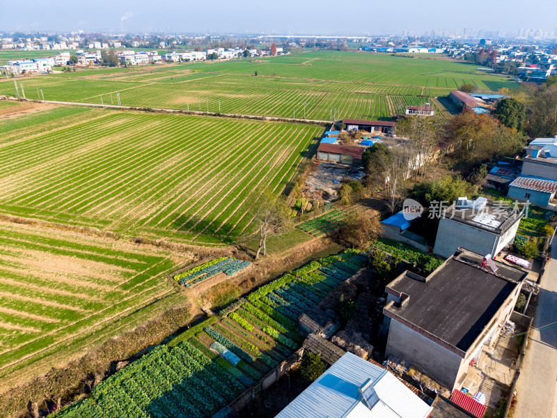
<svg viewBox="0 0 557 418"><path fill-rule="evenodd" d="M526 272L458 249L427 277L406 271L386 286L386 356L420 367L460 389L483 346L493 347L517 302Z"/></svg>

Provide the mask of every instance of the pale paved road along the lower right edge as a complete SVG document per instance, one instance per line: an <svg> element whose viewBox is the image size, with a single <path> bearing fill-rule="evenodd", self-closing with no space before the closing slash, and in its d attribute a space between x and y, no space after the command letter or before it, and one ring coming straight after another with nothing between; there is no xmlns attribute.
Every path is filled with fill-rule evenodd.
<svg viewBox="0 0 557 418"><path fill-rule="evenodd" d="M542 277L542 289L534 326L543 327L557 321L557 238L551 260ZM524 357L517 382L515 418L557 417L557 327L531 333L530 347Z"/></svg>

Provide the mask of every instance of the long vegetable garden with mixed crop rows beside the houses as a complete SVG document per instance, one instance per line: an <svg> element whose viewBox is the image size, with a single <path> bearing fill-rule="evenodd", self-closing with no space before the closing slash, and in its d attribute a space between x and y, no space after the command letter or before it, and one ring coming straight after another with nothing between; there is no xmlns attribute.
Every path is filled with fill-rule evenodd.
<svg viewBox="0 0 557 418"><path fill-rule="evenodd" d="M319 303L365 262L347 250L285 274L227 318L209 318L155 348L54 417L211 417L300 346L297 318L285 312Z"/></svg>

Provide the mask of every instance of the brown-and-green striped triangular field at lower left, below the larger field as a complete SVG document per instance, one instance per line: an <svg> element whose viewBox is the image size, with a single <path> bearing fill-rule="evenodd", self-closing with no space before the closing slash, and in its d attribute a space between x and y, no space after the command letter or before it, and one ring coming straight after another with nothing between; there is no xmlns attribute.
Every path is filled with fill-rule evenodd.
<svg viewBox="0 0 557 418"><path fill-rule="evenodd" d="M123 241L0 222L0 387L45 373L168 309L177 291L166 273L185 260Z"/></svg>

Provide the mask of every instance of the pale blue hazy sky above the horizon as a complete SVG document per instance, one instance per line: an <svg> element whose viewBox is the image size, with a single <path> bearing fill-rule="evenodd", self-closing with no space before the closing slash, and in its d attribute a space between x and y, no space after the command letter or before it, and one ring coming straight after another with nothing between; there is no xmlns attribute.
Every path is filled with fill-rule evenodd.
<svg viewBox="0 0 557 418"><path fill-rule="evenodd" d="M0 31L355 35L556 27L557 0L0 0Z"/></svg>

